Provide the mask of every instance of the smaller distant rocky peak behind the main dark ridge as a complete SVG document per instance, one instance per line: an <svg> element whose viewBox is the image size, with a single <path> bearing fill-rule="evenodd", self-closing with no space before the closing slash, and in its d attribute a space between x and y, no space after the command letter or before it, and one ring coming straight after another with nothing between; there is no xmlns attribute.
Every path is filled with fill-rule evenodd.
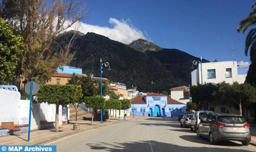
<svg viewBox="0 0 256 152"><path fill-rule="evenodd" d="M145 52L145 51L160 51L162 50L161 47L155 45L152 42L143 40L143 39L138 39L134 42L132 42L129 47L133 48L134 50Z"/></svg>

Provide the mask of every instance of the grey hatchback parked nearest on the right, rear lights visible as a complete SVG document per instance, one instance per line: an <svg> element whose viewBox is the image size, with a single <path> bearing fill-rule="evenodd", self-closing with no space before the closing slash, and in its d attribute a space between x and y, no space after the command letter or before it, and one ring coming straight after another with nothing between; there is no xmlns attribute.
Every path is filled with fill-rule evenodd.
<svg viewBox="0 0 256 152"><path fill-rule="evenodd" d="M211 113L202 119L197 128L197 137L207 137L211 144L222 140L241 141L248 145L251 140L250 125L242 116L229 113Z"/></svg>

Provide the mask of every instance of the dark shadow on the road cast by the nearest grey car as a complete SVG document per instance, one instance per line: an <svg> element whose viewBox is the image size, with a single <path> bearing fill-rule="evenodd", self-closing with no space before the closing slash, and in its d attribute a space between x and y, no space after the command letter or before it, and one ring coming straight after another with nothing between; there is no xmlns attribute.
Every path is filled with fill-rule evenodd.
<svg viewBox="0 0 256 152"><path fill-rule="evenodd" d="M195 142L195 143L202 143L202 144L208 144L210 145L208 138L198 138L196 135L183 135L179 136L181 139ZM219 141L216 145L222 145L222 146L242 146L242 144L238 144L232 141Z"/></svg>

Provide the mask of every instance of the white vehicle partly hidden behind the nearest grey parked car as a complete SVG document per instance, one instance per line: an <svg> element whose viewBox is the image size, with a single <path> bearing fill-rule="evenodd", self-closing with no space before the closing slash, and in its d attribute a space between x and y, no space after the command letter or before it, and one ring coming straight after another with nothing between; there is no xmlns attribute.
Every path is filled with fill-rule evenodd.
<svg viewBox="0 0 256 152"><path fill-rule="evenodd" d="M214 113L214 112L208 111L208 110L195 111L195 113L194 113L195 115L191 120L190 129L196 130L198 127L198 124L200 123L200 120L207 117L208 113Z"/></svg>

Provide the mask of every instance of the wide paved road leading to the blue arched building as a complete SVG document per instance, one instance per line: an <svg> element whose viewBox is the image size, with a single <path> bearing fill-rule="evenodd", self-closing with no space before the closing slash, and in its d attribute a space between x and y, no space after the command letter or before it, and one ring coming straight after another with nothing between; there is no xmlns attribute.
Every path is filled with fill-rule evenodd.
<svg viewBox="0 0 256 152"><path fill-rule="evenodd" d="M256 151L256 146L240 142L211 145L188 128L180 128L176 118L144 117L68 136L48 143L57 151Z"/></svg>

